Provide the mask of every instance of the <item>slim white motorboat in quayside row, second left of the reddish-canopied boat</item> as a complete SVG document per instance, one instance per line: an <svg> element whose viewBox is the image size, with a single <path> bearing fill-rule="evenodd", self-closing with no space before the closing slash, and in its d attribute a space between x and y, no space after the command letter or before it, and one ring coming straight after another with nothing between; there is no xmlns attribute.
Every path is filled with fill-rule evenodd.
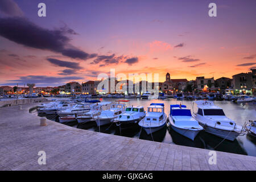
<svg viewBox="0 0 256 182"><path fill-rule="evenodd" d="M88 112L92 108L91 103L77 103L75 106L65 109L65 110L60 110L57 111L57 114L59 117L64 117L67 115L73 115L73 114L83 114Z"/></svg>

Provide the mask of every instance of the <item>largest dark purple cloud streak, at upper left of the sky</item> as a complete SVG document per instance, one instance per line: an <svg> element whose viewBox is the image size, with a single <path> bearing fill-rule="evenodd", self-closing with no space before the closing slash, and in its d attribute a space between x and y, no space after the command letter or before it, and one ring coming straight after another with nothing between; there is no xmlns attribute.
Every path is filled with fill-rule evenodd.
<svg viewBox="0 0 256 182"><path fill-rule="evenodd" d="M26 18L0 18L0 36L15 43L26 47L58 52L73 59L86 60L95 57L96 54L90 55L69 43L71 39L67 34L75 34L74 32L67 28L48 30L37 26Z"/></svg>

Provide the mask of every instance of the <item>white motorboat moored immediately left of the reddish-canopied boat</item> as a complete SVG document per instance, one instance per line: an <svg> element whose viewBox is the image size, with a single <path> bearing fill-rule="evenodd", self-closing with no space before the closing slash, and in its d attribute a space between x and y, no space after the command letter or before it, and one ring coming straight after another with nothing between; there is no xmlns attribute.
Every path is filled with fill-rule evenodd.
<svg viewBox="0 0 256 182"><path fill-rule="evenodd" d="M86 123L89 121L95 121L94 117L101 114L102 110L108 109L108 105L112 102L99 102L90 109L87 113L77 115L77 122Z"/></svg>

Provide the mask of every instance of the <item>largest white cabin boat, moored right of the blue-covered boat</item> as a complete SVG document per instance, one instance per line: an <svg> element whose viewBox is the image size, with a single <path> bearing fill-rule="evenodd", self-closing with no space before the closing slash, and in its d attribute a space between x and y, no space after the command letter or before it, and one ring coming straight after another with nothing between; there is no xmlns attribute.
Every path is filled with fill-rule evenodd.
<svg viewBox="0 0 256 182"><path fill-rule="evenodd" d="M221 107L214 105L212 101L193 101L193 108L194 104L198 110L197 113L193 112L193 118L206 132L232 141L242 134L243 127L226 117Z"/></svg>

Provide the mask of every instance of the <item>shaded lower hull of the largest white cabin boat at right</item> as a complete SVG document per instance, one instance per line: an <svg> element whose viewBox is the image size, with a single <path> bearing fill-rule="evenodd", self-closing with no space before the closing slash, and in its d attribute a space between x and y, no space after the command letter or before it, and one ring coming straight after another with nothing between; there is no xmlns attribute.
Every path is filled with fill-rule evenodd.
<svg viewBox="0 0 256 182"><path fill-rule="evenodd" d="M225 138L225 139L228 139L231 141L234 141L238 137L238 135L240 135L240 133L237 133L236 131L216 129L216 128L210 127L208 125L204 125L203 123L200 123L200 122L199 122L199 124L204 127L204 129L207 133L210 133L210 134L213 134L218 137Z"/></svg>

